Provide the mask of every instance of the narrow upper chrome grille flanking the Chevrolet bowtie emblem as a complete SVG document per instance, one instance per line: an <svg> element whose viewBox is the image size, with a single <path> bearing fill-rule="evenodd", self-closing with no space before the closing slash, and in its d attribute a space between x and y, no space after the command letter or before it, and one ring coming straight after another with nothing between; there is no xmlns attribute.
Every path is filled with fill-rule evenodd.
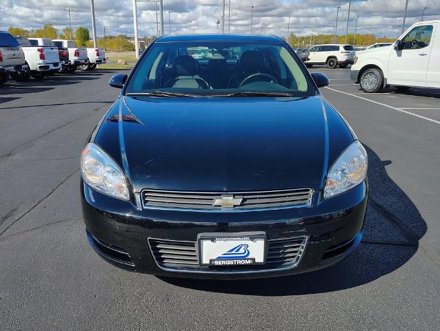
<svg viewBox="0 0 440 331"><path fill-rule="evenodd" d="M234 207L214 205L216 199L230 197L241 199ZM308 207L312 203L310 188L259 192L186 192L143 190L141 200L144 208L182 208L196 210L246 210L258 208Z"/></svg>

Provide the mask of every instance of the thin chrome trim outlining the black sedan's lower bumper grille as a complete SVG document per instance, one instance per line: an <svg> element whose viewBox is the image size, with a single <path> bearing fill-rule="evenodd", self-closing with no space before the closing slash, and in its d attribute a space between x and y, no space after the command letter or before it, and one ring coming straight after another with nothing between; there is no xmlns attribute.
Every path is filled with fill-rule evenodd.
<svg viewBox="0 0 440 331"><path fill-rule="evenodd" d="M266 274L269 272L277 272L277 271L285 271L285 270L291 270L295 267L297 267L297 265L299 265L299 263L301 262L301 260L303 259L303 255L304 252L306 251L306 247L308 244L308 239L309 236L299 236L299 237L290 237L290 238L279 238L279 239L272 239L273 241L277 241L277 240L288 240L288 239L303 239L303 243L300 246L299 252L298 252L298 256L299 259L298 261L296 261L295 263L291 264L291 265L285 265L283 267L279 267L279 268L272 268L272 269L255 269L255 270L224 270L224 271L218 271L218 270L200 270L200 269L192 269L192 268L171 268L171 267L163 267L162 265L159 264L159 262L157 261L156 257L154 256L153 250L152 250L152 246L150 243L150 239L151 240L157 240L157 241L173 241L175 242L183 242L183 243L194 243L194 247L196 247L196 252L197 252L197 245L196 245L196 241L179 241L179 240L172 240L172 239L159 239L159 238L151 238L148 237L147 239L147 243L148 243L148 247L150 247L150 252L152 254L152 257L154 259L154 262L156 262L156 265L164 271L168 271L168 272L180 272L180 273L188 273L188 274ZM272 241L272 240L268 240L268 242ZM197 261L199 261L199 252L197 252Z"/></svg>

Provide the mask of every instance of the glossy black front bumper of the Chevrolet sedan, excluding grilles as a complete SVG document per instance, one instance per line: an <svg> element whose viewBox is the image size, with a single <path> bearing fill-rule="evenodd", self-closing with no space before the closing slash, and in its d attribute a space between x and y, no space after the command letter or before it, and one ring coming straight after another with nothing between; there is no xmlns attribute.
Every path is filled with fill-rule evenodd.
<svg viewBox="0 0 440 331"><path fill-rule="evenodd" d="M368 183L311 208L246 212L139 210L96 192L81 182L81 204L88 241L103 259L128 270L168 277L252 279L297 274L325 268L346 257L359 244L366 214ZM314 199L319 199L319 192ZM299 263L292 268L246 270L164 268L148 239L197 241L205 232L266 232L267 239L307 237ZM119 254L120 253L120 254Z"/></svg>

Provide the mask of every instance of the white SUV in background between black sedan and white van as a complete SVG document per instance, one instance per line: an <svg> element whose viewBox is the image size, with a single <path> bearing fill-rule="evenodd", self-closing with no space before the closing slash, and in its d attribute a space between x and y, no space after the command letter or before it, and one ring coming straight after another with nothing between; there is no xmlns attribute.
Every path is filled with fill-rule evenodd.
<svg viewBox="0 0 440 331"><path fill-rule="evenodd" d="M306 66L310 68L314 64L326 64L328 68L347 68L353 64L356 51L352 45L317 45L310 48L309 60Z"/></svg>

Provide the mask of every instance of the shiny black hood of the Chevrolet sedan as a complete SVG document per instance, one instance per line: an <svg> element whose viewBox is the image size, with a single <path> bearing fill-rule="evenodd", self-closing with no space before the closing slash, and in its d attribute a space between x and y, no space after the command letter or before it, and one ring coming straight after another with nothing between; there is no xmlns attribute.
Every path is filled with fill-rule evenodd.
<svg viewBox="0 0 440 331"><path fill-rule="evenodd" d="M336 126L338 134L346 136L333 139L332 146L329 110L341 127ZM343 119L319 95L121 97L95 138L136 192L320 190L329 163L352 139Z"/></svg>

